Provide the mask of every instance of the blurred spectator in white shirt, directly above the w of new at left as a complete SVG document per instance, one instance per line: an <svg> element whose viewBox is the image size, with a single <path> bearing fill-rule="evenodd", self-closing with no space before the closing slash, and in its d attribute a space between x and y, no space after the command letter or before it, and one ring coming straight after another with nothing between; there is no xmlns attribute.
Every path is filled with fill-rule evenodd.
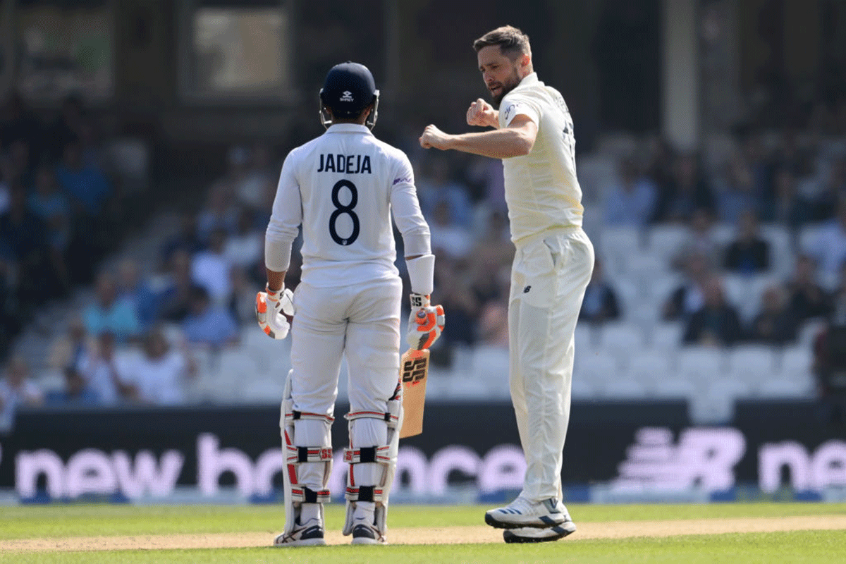
<svg viewBox="0 0 846 564"><path fill-rule="evenodd" d="M154 328L144 337L144 354L129 364L126 377L138 389L138 400L152 405L185 402L184 385L196 367L184 351L170 348L162 331Z"/></svg>

